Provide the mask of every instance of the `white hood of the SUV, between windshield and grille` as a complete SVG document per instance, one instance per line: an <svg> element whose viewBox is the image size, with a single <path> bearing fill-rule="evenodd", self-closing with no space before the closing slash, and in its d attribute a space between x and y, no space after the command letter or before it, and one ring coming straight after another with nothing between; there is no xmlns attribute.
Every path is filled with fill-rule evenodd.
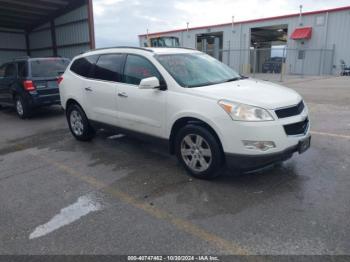
<svg viewBox="0 0 350 262"><path fill-rule="evenodd" d="M229 100L266 109L295 105L302 99L292 89L256 79L189 88L188 92L216 100Z"/></svg>

